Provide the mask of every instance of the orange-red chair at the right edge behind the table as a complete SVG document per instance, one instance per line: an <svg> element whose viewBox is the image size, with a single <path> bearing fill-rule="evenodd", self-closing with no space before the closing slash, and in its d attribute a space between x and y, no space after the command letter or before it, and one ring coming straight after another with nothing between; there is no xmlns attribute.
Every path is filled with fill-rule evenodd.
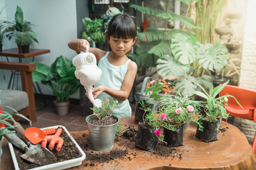
<svg viewBox="0 0 256 170"><path fill-rule="evenodd" d="M221 84L220 84L221 85ZM225 107L230 116L253 120L256 123L256 91L242 87L226 85L219 93L219 96L226 94L234 96L242 105L243 109L237 104L233 97L228 97L228 105ZM256 150L256 133L253 139L253 152Z"/></svg>

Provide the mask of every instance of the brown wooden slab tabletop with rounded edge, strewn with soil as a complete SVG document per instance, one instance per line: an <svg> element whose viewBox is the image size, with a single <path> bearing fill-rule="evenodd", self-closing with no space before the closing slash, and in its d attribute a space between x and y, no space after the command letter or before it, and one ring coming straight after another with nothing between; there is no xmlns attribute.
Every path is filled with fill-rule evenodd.
<svg viewBox="0 0 256 170"><path fill-rule="evenodd" d="M134 123L134 117L122 118L121 124L137 125ZM136 158L133 158L131 161L125 159L126 162L117 159L117 162L113 161L112 164L96 163L97 166L94 167L89 165L85 167L85 163L90 163L85 159L79 167L70 169L255 169L256 159L245 135L236 126L227 124L226 122L222 122L221 125L222 128L228 127L229 129L219 134L218 141L206 143L200 141L200 139L193 135L196 133L196 124L191 122L189 129L184 131L184 146L178 147L180 151L184 151L182 159L159 158L151 155L148 151L136 148L134 142L128 142L127 145L122 145L121 142L115 142L114 148L123 147L124 149L127 148L129 152L136 152ZM88 134L88 130L71 132L76 141L83 139L82 134L84 133ZM13 170L13 161L6 139L3 141L2 148L1 170Z"/></svg>

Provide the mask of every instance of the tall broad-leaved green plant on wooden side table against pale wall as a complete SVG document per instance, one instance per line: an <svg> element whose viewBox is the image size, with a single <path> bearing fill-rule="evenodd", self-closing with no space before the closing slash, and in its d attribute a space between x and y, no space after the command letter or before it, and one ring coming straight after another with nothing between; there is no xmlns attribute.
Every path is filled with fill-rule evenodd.
<svg viewBox="0 0 256 170"><path fill-rule="evenodd" d="M8 37L9 40L16 37L19 32L26 32L32 36L32 39L35 42L38 42L38 40L36 40L34 37L36 36L35 32L32 31L31 29L31 25L33 24L23 20L23 12L19 6L17 6L16 12L15 12L15 22L5 22L5 23L9 24L5 30L5 32L7 33L6 37ZM19 47L19 52L22 52L21 47L19 45L18 47Z"/></svg>

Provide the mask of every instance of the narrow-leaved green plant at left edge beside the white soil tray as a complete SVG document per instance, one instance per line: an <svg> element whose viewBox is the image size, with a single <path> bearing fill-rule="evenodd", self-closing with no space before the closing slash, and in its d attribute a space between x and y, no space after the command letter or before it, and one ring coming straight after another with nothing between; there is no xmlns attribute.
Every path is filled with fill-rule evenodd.
<svg viewBox="0 0 256 170"><path fill-rule="evenodd" d="M1 98L1 97L0 97ZM5 97L6 98L6 97ZM1 107L7 107L10 108L14 111L14 113L9 113L6 111L2 111ZM24 119L26 119L27 121L30 122L30 126L31 126L31 121L23 116L22 114L19 114L14 108L6 106L6 105L1 105L1 100L0 100L0 164L1 164L1 156L2 156L2 141L3 141L3 136L7 135L7 134L12 134L15 133L15 131L11 130L11 129L15 129L15 126L10 124L10 122L15 123L16 121L14 120L13 116L20 116ZM5 127L5 125L7 127ZM7 130L6 130L7 129ZM9 130L10 129L10 130Z"/></svg>

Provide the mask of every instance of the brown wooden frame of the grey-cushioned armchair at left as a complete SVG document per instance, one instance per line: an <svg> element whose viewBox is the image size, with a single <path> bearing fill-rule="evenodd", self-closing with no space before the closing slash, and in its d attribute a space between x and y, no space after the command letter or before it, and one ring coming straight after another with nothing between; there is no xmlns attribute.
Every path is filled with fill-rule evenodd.
<svg viewBox="0 0 256 170"><path fill-rule="evenodd" d="M18 63L18 62L0 62L0 69L20 71L20 76L22 80L22 91L27 93L28 106L26 108L19 110L18 112L26 116L28 119L30 119L31 122L36 122L35 96L34 96L34 87L33 87L32 72L31 72L36 69L35 64ZM9 90L9 91L13 91L13 90ZM20 102L23 102L23 101L20 101ZM1 104L4 105L3 103ZM21 117L19 116L13 116L13 117L15 121L18 121L21 119Z"/></svg>

